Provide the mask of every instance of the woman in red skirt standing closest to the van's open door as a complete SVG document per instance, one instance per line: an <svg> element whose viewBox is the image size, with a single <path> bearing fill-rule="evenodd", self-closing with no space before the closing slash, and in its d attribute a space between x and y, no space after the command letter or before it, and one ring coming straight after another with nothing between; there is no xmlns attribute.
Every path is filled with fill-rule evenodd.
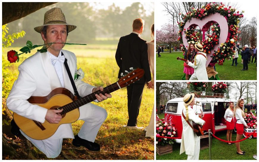
<svg viewBox="0 0 259 162"><path fill-rule="evenodd" d="M235 127L234 124L234 103L233 102L229 102L229 107L228 109L225 111L225 115L224 118L227 122L227 141L232 141L232 131ZM229 145L232 145L232 143L227 143Z"/></svg>

